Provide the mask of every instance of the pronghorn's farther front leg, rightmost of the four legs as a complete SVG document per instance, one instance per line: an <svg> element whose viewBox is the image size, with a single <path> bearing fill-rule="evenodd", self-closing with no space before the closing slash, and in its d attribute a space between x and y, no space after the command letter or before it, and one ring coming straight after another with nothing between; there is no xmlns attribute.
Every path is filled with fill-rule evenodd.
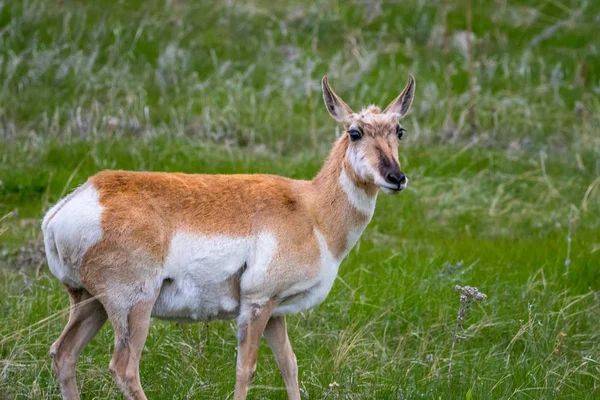
<svg viewBox="0 0 600 400"><path fill-rule="evenodd" d="M285 316L271 317L265 328L265 337L283 375L290 400L300 400L298 388L298 364L287 335Z"/></svg>

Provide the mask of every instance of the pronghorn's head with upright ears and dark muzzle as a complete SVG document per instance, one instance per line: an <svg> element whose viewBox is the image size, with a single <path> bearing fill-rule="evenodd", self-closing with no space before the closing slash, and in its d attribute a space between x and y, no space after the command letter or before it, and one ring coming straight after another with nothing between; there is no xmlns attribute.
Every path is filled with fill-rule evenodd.
<svg viewBox="0 0 600 400"><path fill-rule="evenodd" d="M404 134L400 119L412 103L415 78L408 76L402 93L383 112L377 106L370 106L355 113L331 89L326 76L321 86L327 111L348 135L346 160L358 178L374 183L385 193L400 193L408 184L398 162L398 142Z"/></svg>

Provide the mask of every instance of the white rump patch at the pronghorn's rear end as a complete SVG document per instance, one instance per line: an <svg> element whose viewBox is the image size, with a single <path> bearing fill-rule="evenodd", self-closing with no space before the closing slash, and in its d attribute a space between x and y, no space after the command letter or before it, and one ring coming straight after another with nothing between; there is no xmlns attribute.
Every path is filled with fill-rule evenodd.
<svg viewBox="0 0 600 400"><path fill-rule="evenodd" d="M65 285L81 287L79 268L88 249L102 239L101 217L99 194L90 184L46 213L42 231L48 266Z"/></svg>

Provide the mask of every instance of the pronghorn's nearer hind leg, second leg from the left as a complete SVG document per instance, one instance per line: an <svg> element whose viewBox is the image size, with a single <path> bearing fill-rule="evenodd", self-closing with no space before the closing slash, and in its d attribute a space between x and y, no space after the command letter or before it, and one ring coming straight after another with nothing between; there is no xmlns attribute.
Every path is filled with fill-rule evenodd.
<svg viewBox="0 0 600 400"><path fill-rule="evenodd" d="M128 400L146 400L140 383L140 358L148 336L153 305L154 301L138 303L127 315L108 310L115 330L115 350L109 369Z"/></svg>

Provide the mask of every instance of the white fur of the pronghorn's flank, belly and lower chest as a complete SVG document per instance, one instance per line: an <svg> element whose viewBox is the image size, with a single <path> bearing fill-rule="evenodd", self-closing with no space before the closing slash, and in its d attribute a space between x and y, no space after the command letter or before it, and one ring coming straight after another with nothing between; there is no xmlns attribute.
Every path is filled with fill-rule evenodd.
<svg viewBox="0 0 600 400"><path fill-rule="evenodd" d="M258 293L265 300L285 299L276 315L297 313L320 304L333 286L341 260L331 255L325 239L316 230L315 235L321 252L319 275L296 282L283 292ZM268 270L276 248L277 242L270 234L253 239L177 233L158 277L162 286L152 315L188 322L235 318L240 308L240 290L256 293L253 289L257 287L269 287ZM293 262L287 265L292 266Z"/></svg>

